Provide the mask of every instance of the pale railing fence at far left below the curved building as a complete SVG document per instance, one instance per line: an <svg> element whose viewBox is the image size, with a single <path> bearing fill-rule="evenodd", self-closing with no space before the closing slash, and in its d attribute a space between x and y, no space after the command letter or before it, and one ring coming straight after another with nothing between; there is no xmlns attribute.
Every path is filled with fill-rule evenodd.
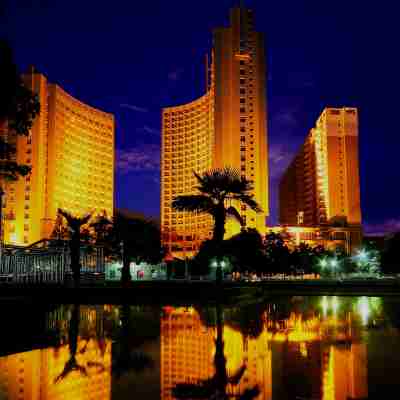
<svg viewBox="0 0 400 400"><path fill-rule="evenodd" d="M62 283L72 275L68 248L0 249L0 282ZM81 279L104 279L102 247L81 250Z"/></svg>

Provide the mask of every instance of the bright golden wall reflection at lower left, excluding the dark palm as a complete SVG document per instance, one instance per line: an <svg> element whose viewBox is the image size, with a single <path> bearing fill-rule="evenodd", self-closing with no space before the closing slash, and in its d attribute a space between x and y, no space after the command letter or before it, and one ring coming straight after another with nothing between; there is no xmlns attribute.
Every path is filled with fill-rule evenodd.
<svg viewBox="0 0 400 400"><path fill-rule="evenodd" d="M73 371L55 382L70 357L68 345L32 350L0 358L0 398L7 400L110 400L111 340L79 338L77 363L86 375ZM101 366L101 367L100 367Z"/></svg>

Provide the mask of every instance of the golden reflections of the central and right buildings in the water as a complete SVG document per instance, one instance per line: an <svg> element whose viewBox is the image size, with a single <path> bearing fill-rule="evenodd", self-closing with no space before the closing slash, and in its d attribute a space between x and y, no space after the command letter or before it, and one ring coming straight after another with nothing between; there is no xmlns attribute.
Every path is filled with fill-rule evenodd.
<svg viewBox="0 0 400 400"><path fill-rule="evenodd" d="M259 400L366 399L368 358L362 327L379 303L373 298L345 307L340 303L336 297L323 298L313 312L292 310L285 317L277 317L275 305L269 305L260 316L263 327L256 337L226 321L227 372L246 366L238 393L257 386ZM207 326L193 307L164 308L162 399L173 399L171 389L180 383L200 382L214 374L215 337L216 328Z"/></svg>

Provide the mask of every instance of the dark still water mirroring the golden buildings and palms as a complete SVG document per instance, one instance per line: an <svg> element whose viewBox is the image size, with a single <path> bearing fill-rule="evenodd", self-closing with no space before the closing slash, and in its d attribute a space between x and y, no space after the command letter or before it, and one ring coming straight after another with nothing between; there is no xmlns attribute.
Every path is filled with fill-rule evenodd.
<svg viewBox="0 0 400 400"><path fill-rule="evenodd" d="M241 304L2 307L0 400L381 400L400 388L400 299Z"/></svg>

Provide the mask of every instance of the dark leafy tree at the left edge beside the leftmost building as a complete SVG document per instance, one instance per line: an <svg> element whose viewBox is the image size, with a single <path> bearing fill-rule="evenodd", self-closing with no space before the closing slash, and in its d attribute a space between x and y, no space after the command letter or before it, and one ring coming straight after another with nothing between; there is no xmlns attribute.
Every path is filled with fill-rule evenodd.
<svg viewBox="0 0 400 400"><path fill-rule="evenodd" d="M40 111L40 104L22 82L11 48L0 40L0 221L4 184L26 176L31 168L15 161L16 137L27 136ZM1 230L1 226L0 226ZM0 234L1 235L1 234Z"/></svg>

